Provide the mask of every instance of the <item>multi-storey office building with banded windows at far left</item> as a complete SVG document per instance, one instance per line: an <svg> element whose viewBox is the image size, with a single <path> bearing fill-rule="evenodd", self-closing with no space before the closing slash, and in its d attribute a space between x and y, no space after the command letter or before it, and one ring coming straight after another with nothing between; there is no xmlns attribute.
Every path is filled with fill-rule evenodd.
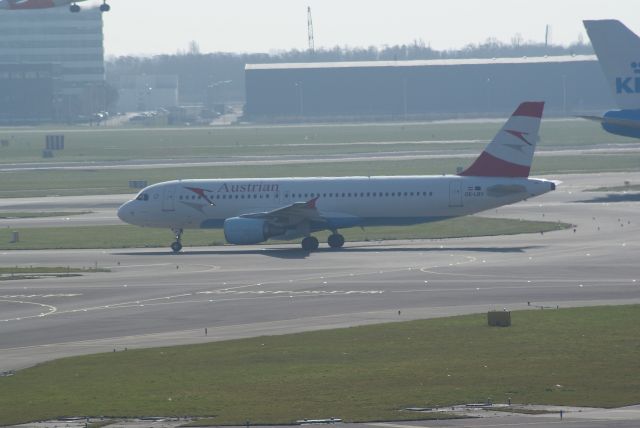
<svg viewBox="0 0 640 428"><path fill-rule="evenodd" d="M0 11L0 123L73 120L105 109L102 13Z"/></svg>

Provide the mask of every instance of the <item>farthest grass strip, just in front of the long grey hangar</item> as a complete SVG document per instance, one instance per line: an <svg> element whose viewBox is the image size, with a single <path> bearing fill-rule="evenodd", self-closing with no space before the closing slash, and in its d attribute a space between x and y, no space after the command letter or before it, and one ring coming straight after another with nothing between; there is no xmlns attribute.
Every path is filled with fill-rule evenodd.
<svg viewBox="0 0 640 428"><path fill-rule="evenodd" d="M0 163L318 155L328 153L469 150L482 148L502 121L236 126L217 128L0 128ZM44 137L65 135L65 149L42 159ZM442 144L442 143L446 144ZM475 143L474 143L475 142ZM383 143L383 144L381 144ZM418 144L415 144L418 143ZM629 144L581 119L543 121L545 148Z"/></svg>

